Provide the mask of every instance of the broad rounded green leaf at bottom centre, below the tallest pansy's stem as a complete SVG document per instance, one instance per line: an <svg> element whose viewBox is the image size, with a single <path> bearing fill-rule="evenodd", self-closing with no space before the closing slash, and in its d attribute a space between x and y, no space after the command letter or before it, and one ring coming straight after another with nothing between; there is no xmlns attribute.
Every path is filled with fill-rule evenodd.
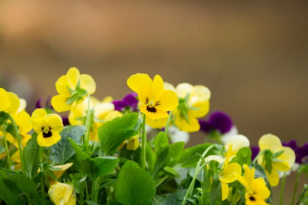
<svg viewBox="0 0 308 205"><path fill-rule="evenodd" d="M128 161L119 174L115 198L124 205L144 205L155 195L154 181L138 163Z"/></svg>

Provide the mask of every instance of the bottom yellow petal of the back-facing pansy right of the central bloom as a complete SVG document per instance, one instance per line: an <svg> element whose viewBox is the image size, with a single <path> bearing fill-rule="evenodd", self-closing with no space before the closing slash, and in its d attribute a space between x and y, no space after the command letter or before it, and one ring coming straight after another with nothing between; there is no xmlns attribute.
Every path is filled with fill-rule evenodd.
<svg viewBox="0 0 308 205"><path fill-rule="evenodd" d="M185 118L181 117L179 113L176 115L175 124L181 131L197 132L200 130L200 124L198 119L196 119L189 113L188 113L188 121L189 122L187 122Z"/></svg>

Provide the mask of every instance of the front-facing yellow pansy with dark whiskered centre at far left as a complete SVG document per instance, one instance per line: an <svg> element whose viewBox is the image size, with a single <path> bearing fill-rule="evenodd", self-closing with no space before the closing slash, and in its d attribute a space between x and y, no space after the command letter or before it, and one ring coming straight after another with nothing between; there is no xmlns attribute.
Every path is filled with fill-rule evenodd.
<svg viewBox="0 0 308 205"><path fill-rule="evenodd" d="M31 115L33 130L37 135L37 144L50 147L61 139L63 129L62 118L57 114L48 114L45 109L36 109Z"/></svg>

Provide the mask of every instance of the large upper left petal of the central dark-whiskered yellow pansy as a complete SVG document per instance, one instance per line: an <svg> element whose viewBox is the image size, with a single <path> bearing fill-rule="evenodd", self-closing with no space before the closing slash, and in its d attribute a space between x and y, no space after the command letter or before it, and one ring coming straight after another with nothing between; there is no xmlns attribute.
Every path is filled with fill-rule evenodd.
<svg viewBox="0 0 308 205"><path fill-rule="evenodd" d="M127 85L131 90L149 98L152 97L152 84L153 81L147 74L137 73L127 79Z"/></svg>

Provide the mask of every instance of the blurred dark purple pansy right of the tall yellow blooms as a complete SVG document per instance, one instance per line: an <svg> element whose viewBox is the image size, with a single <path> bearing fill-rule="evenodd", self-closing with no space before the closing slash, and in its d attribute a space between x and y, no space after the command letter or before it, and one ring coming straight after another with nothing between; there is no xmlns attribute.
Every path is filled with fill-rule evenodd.
<svg viewBox="0 0 308 205"><path fill-rule="evenodd" d="M233 126L232 119L224 112L213 112L208 120L199 119L200 130L209 133L212 130L219 130L221 134L227 133Z"/></svg>

